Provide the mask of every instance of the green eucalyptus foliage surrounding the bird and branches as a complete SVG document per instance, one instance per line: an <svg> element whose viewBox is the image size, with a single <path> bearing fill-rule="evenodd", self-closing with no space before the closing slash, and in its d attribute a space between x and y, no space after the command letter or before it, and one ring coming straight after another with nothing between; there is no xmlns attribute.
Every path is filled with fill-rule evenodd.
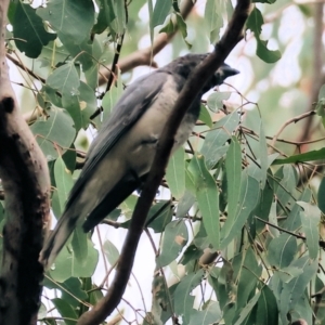
<svg viewBox="0 0 325 325"><path fill-rule="evenodd" d="M268 91L262 87L259 90L259 106L249 101L259 89L258 81L269 77L273 66L268 64L281 61L281 52L286 51L276 35L285 8L295 6L309 16L309 6L290 1L255 2L268 3L255 3L246 25L253 32L247 38L255 37L257 44L256 53L247 56L255 67L255 81L245 86L245 96L235 88L211 93L202 105L190 143L170 158L166 173L170 192L157 197L146 222L156 259L142 255L143 246L136 257L142 268L154 264L152 297L146 297L152 308L133 308L138 298L131 299L123 304L126 310L119 311L128 322L133 308L136 323L143 324L165 324L171 318L176 324L174 317L190 325L274 325L298 318L308 324L315 320L316 324L325 323L325 182L318 173L324 148L312 146L296 153L288 145L300 150L300 143L277 142L278 135L273 140L265 135L278 128L280 120L283 123L283 119L270 115L277 112L283 118L278 109L283 108L284 86L266 79ZM131 78L130 74L120 77L118 73L117 82L106 93L98 83L100 67L117 55L116 46L121 46L121 56L127 56L136 51L138 41L147 32L153 41L157 31L172 32L178 26L181 36L172 42L172 56L187 47L203 52L219 39L220 28L233 11L230 0L207 0L204 17L196 12L185 23L177 1L96 0L95 4L90 0L50 0L34 8L16 0L9 12L13 28L9 51L20 57L24 52L27 73L32 70L38 76L30 82L38 114L29 123L49 161L56 218L82 165L86 135L101 128L101 116L107 118L122 92L122 82ZM277 40L276 50L268 48L262 30L270 12L280 13L269 36ZM150 30L140 13L148 13ZM304 30L306 35L310 32ZM301 50L300 63L310 60ZM301 63L300 68L307 75L308 64ZM295 88L290 84L286 91ZM302 98L301 89L297 92L297 98ZM323 92L316 106L322 119ZM25 112L30 110L21 102ZM303 100L297 108L300 110L292 114L304 109L301 103ZM290 105L297 107L297 102ZM324 133L322 128L313 139L320 133ZM309 143L313 141L303 144ZM104 223L127 229L135 199L136 195L129 197ZM2 205L0 219L2 224ZM76 324L106 292L106 277L114 272L119 256L119 240L114 243L110 236L125 233L109 229L109 239L105 239L105 226L87 236L75 232L67 249L60 253L46 276L48 300L39 312L41 323L62 324L64 320ZM150 296L150 290L140 288L140 292Z"/></svg>

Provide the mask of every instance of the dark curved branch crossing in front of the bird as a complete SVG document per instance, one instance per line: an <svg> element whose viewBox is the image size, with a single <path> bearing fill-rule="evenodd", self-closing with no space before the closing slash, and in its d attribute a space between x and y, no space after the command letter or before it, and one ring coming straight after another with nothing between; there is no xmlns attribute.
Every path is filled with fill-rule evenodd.
<svg viewBox="0 0 325 325"><path fill-rule="evenodd" d="M169 121L160 136L147 181L136 203L129 232L118 261L115 278L107 295L91 311L80 317L78 322L79 325L99 324L103 322L119 303L130 276L146 214L165 174L165 169L174 141L174 134L187 108L204 87L206 80L220 67L233 48L243 38L243 27L248 16L249 6L249 0L237 1L233 17L220 42L217 43L216 50L193 72L180 93Z"/></svg>

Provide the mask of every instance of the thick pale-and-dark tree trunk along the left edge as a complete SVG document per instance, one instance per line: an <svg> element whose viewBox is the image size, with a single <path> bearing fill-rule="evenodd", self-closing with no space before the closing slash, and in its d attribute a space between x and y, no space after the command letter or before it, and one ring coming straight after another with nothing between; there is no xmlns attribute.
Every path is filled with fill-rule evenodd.
<svg viewBox="0 0 325 325"><path fill-rule="evenodd" d="M49 222L47 160L18 113L9 80L4 35L9 0L0 2L0 178L6 222L0 275L0 324L36 324L43 269L38 262Z"/></svg>

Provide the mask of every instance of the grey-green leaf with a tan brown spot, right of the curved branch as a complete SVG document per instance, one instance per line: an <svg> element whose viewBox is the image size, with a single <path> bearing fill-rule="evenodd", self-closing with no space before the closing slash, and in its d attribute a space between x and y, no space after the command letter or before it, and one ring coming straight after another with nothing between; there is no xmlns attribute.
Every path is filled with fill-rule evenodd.
<svg viewBox="0 0 325 325"><path fill-rule="evenodd" d="M164 268L171 263L187 244L188 233L183 221L171 221L165 227L161 253L157 258L159 268Z"/></svg>

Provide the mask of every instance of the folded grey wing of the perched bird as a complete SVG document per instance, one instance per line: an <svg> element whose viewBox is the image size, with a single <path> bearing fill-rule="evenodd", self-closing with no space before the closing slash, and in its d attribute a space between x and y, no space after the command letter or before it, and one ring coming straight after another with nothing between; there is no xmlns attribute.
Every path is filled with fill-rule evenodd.
<svg viewBox="0 0 325 325"><path fill-rule="evenodd" d="M66 209L80 193L96 164L107 155L116 142L139 120L160 92L168 73L156 70L131 83L117 102L110 117L104 122L88 152L82 171L75 183Z"/></svg>

